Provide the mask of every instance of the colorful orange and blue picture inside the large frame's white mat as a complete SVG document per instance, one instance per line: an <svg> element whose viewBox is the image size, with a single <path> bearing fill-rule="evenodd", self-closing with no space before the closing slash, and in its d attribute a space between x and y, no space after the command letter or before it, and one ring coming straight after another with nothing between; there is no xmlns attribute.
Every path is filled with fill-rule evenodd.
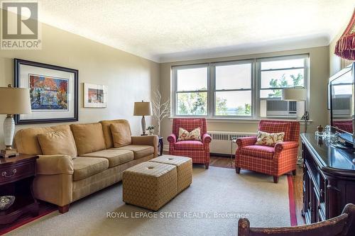
<svg viewBox="0 0 355 236"><path fill-rule="evenodd" d="M29 74L29 83L32 110L68 110L67 79Z"/></svg>

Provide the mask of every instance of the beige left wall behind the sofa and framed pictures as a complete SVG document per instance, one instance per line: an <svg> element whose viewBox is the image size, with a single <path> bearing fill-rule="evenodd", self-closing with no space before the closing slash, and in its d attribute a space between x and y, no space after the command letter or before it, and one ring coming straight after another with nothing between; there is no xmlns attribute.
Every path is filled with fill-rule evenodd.
<svg viewBox="0 0 355 236"><path fill-rule="evenodd" d="M13 84L13 58L78 69L79 122L126 118L132 133L138 135L141 117L132 115L133 102L151 100L152 89L159 83L159 64L51 26L43 25L42 32L42 50L0 50L0 86ZM108 86L107 108L83 108L84 82ZM1 127L4 118L0 115ZM17 125L16 130L30 126L38 125ZM2 148L2 128L0 140Z"/></svg>

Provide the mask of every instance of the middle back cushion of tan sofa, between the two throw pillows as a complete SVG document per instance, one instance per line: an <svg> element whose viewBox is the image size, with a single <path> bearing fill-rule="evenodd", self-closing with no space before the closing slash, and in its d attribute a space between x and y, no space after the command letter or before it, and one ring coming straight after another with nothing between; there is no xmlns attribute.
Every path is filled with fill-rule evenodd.
<svg viewBox="0 0 355 236"><path fill-rule="evenodd" d="M72 124L72 135L77 145L77 154L87 154L106 149L101 123Z"/></svg>

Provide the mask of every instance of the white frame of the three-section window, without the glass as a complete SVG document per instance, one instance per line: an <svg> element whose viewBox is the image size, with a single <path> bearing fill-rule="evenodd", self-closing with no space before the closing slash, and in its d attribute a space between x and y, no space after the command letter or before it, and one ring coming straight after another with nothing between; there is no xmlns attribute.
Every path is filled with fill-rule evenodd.
<svg viewBox="0 0 355 236"><path fill-rule="evenodd" d="M303 59L304 67L290 67L290 68L279 68L279 69L263 69L261 70L261 62L272 62L278 60L293 60L293 59ZM216 67L227 66L232 64L251 64L251 89L216 89ZM196 90L196 91L177 91L178 88L178 69L193 69L207 67L207 91ZM275 57L259 57L253 59L245 60L230 60L222 62L207 62L207 63L197 63L197 64L182 64L174 65L171 67L171 113L173 117L202 117L202 118L235 118L235 119L261 119L266 117L261 117L260 114L260 101L261 100L280 100L280 98L261 98L260 94L262 90L268 90L261 88L261 72L262 71L273 71L273 70L285 70L285 69L305 69L304 72L304 82L302 88L307 89L309 92L309 76L310 76L310 55L308 53L302 53L297 55L282 55ZM285 87L280 89L287 89L292 87ZM217 91L251 91L251 115L250 116L217 116L215 111L215 101ZM178 115L177 99L179 93L191 93L191 92L207 92L207 115ZM308 105L308 100L305 101L306 106ZM290 119L288 117L271 117L267 118L283 118ZM295 118L292 118L295 119Z"/></svg>

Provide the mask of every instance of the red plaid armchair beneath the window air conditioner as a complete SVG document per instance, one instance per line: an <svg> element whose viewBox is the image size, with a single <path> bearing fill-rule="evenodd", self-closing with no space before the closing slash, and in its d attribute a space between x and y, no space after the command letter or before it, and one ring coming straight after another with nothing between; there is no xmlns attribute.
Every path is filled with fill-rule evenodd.
<svg viewBox="0 0 355 236"><path fill-rule="evenodd" d="M284 142L275 147L255 145L256 137L241 137L236 140L236 173L241 168L270 174L275 184L278 177L287 173L295 174L300 123L280 120L261 120L258 130L268 133L285 132Z"/></svg>

